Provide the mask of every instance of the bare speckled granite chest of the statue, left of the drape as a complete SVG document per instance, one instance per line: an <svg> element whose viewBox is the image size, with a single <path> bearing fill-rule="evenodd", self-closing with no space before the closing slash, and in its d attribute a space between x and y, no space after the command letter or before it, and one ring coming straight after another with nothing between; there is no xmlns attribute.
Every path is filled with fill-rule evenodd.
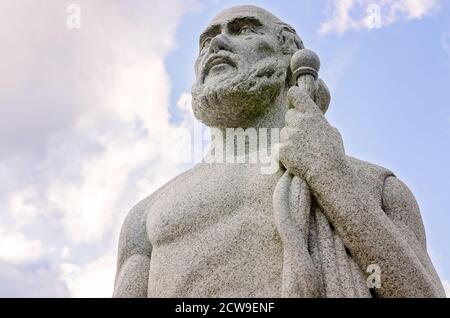
<svg viewBox="0 0 450 318"><path fill-rule="evenodd" d="M148 211L154 247L217 227L252 224L273 230L272 193L279 176L251 165L206 165L160 193Z"/></svg>

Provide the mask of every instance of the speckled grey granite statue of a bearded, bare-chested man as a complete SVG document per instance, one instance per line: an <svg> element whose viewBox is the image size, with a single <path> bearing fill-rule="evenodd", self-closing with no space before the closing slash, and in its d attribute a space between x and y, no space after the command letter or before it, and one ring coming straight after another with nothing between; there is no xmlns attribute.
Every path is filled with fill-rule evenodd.
<svg viewBox="0 0 450 318"><path fill-rule="evenodd" d="M281 129L269 143L279 169L204 160L139 202L122 227L115 297L445 297L412 193L346 156L318 69L261 8L213 19L194 114L222 132Z"/></svg>

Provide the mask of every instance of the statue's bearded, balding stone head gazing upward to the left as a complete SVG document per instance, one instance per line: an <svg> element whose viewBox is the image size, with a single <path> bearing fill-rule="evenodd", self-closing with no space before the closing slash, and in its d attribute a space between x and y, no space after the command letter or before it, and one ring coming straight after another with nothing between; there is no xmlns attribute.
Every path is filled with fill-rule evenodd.
<svg viewBox="0 0 450 318"><path fill-rule="evenodd" d="M192 106L212 127L245 127L265 113L290 85L291 56L303 48L292 27L255 6L221 12L199 43Z"/></svg>

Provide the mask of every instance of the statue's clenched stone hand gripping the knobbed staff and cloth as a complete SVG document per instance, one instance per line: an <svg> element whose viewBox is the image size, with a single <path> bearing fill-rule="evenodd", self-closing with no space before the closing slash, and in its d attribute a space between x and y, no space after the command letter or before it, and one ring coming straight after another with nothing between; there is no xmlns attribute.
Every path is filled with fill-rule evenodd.
<svg viewBox="0 0 450 318"><path fill-rule="evenodd" d="M280 132L279 158L289 172L309 183L317 173L346 162L342 137L304 89L291 87L288 101L291 109Z"/></svg>

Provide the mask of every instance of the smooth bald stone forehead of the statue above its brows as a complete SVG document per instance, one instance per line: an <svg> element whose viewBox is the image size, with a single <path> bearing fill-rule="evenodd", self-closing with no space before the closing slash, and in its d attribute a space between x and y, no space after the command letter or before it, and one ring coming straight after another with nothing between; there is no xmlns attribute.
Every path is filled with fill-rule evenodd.
<svg viewBox="0 0 450 318"><path fill-rule="evenodd" d="M262 8L256 6L237 6L220 12L211 20L209 25L223 24L238 17L253 17L260 20L263 24L281 22L272 13Z"/></svg>

